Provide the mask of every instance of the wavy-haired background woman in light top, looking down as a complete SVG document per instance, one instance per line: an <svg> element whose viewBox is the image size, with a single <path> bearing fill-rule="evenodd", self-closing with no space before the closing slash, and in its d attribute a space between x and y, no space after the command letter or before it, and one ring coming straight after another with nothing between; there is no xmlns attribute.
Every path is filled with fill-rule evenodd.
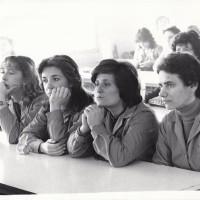
<svg viewBox="0 0 200 200"><path fill-rule="evenodd" d="M133 57L133 64L142 71L153 71L153 64L162 52L162 47L157 45L151 32L141 28L136 34L137 47Z"/></svg>

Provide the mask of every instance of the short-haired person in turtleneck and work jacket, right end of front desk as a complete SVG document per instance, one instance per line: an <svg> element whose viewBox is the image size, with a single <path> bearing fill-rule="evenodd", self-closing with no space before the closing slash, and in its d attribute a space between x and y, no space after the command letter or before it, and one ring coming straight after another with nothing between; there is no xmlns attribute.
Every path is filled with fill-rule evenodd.
<svg viewBox="0 0 200 200"><path fill-rule="evenodd" d="M200 63L188 53L172 53L158 66L167 114L159 127L153 162L200 171Z"/></svg>

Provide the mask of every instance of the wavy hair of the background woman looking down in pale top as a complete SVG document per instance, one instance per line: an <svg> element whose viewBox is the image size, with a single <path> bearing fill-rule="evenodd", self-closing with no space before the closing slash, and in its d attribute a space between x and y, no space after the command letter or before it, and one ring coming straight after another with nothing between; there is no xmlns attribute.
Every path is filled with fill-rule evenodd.
<svg viewBox="0 0 200 200"><path fill-rule="evenodd" d="M135 41L137 43L148 41L150 43L150 49L153 49L156 46L156 42L155 42L151 32L147 28L141 28L141 29L138 30L138 32L136 33Z"/></svg>

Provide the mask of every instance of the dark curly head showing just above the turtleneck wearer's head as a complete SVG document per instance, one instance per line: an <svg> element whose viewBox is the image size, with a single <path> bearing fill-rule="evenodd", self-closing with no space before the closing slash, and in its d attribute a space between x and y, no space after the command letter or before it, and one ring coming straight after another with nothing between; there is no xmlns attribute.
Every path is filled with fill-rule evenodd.
<svg viewBox="0 0 200 200"><path fill-rule="evenodd" d="M178 33L173 38L172 50L174 52L190 53L200 61L199 35L193 30Z"/></svg>

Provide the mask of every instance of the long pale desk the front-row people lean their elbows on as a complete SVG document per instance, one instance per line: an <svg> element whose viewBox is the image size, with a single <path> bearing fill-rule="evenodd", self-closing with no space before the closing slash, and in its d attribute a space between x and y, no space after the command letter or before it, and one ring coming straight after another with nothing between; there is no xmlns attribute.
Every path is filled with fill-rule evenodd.
<svg viewBox="0 0 200 200"><path fill-rule="evenodd" d="M1 139L1 138L0 138ZM113 168L94 158L30 153L0 140L0 183L38 194L177 191L200 188L200 173L148 162Z"/></svg>

